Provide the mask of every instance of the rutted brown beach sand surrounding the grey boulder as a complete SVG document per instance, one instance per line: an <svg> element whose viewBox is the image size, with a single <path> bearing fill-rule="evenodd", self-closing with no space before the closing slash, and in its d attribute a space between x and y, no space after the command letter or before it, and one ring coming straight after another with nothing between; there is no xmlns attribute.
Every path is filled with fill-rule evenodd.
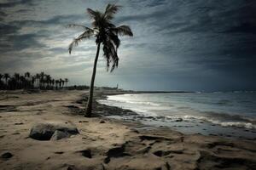
<svg viewBox="0 0 256 170"><path fill-rule="evenodd" d="M141 125L136 122L73 116L84 109L86 93L1 92L0 168L256 169L255 141L184 135L166 128L137 131ZM104 111L100 109L98 113ZM68 122L79 134L55 141L28 138L38 122ZM11 155L3 155L7 152Z"/></svg>

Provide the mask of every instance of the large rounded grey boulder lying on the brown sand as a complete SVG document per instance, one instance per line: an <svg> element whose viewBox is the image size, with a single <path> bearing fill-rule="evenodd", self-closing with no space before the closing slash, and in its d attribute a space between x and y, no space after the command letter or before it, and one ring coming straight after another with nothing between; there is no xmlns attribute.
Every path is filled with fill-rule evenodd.
<svg viewBox="0 0 256 170"><path fill-rule="evenodd" d="M32 139L49 140L68 138L72 134L79 133L77 127L65 122L41 122L35 124L29 134Z"/></svg>

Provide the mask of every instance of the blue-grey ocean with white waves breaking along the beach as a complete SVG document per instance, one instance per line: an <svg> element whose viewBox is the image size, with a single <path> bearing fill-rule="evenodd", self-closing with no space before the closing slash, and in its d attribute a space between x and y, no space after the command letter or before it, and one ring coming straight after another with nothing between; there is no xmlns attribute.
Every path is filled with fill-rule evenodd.
<svg viewBox="0 0 256 170"><path fill-rule="evenodd" d="M113 118L172 127L182 133L256 139L255 92L120 94L98 102L138 114Z"/></svg>

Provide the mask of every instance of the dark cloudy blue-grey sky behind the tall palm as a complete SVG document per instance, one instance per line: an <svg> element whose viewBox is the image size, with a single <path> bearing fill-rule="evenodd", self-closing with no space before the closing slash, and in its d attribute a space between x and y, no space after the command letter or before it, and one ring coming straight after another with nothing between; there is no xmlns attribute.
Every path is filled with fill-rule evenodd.
<svg viewBox="0 0 256 170"><path fill-rule="evenodd" d="M44 71L69 84L90 84L94 39L68 54L90 26L86 8L122 8L113 19L134 37L120 37L119 68L100 53L96 86L134 90L256 90L255 0L0 0L0 73Z"/></svg>

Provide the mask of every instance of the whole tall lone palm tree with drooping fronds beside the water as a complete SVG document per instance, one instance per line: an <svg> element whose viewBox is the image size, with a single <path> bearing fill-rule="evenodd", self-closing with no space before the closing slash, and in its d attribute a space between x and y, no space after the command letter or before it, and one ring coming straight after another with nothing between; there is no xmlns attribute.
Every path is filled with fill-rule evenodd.
<svg viewBox="0 0 256 170"><path fill-rule="evenodd" d="M91 28L75 24L69 25L69 27L82 27L84 29L84 32L79 35L79 37L76 37L73 42L70 43L68 48L69 54L71 54L73 47L79 45L79 42L81 42L82 40L93 36L96 37L96 58L94 61L90 81L90 94L87 102L85 116L91 116L93 88L96 76L96 65L101 44L103 45L103 56L107 60L107 68L109 68L109 65L112 63L110 71L113 71L115 67L118 67L119 63L119 57L117 54L117 49L120 45L119 36L133 36L129 26L117 27L114 26L111 22L113 20L114 14L119 11L119 8L120 6L117 6L115 4L108 4L104 13L98 10L92 10L91 8L87 8L87 13L90 15L90 19L92 20Z"/></svg>

